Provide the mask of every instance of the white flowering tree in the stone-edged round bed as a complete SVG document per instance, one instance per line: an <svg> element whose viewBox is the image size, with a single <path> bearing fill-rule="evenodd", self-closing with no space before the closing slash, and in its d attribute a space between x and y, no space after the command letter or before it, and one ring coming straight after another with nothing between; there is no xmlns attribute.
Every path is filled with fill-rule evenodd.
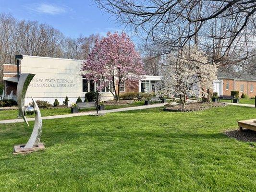
<svg viewBox="0 0 256 192"><path fill-rule="evenodd" d="M171 57L170 65L163 72L163 82L156 87L160 96L178 95L185 108L188 93L203 91L202 96L209 98L207 90L212 88L217 78L217 66L208 63L204 52L197 47L185 47L178 58Z"/></svg>

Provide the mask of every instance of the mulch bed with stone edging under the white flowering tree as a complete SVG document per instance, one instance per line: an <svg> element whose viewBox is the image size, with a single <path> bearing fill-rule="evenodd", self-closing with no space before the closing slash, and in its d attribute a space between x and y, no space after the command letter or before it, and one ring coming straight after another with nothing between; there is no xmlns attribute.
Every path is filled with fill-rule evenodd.
<svg viewBox="0 0 256 192"><path fill-rule="evenodd" d="M191 102L185 105L185 108L182 105L171 105L166 104L164 110L165 111L172 111L172 112L192 112L192 111L201 111L206 110L207 108L218 108L218 107L225 107L227 106L226 103L222 102Z"/></svg>

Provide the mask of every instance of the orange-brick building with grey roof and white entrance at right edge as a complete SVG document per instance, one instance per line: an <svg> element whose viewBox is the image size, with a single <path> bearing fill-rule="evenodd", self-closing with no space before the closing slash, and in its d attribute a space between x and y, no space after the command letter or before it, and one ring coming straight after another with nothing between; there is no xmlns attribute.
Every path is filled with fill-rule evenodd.
<svg viewBox="0 0 256 192"><path fill-rule="evenodd" d="M256 96L256 76L246 73L219 72L217 80L214 81L214 92L219 95L230 96L231 91L239 91L239 96L243 93L249 97Z"/></svg>

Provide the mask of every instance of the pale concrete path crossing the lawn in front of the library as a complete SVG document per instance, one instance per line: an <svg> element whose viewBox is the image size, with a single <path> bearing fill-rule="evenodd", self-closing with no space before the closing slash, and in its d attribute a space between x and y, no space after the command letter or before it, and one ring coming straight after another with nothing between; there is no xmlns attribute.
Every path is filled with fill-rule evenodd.
<svg viewBox="0 0 256 192"><path fill-rule="evenodd" d="M137 107L116 108L116 109L110 109L110 110L103 110L103 111L100 111L100 113L113 113L113 112L129 111L129 110L137 110L137 109L157 108L157 107L163 107L165 104L166 103L159 103L159 104L143 105L143 106L137 106ZM65 114L65 115L46 116L46 117L42 117L42 120L52 120L52 119L60 119L60 118L67 118L67 117L85 116L85 115L89 115L89 114L96 114L96 111L86 111L86 112L81 112L81 113L71 113L71 114ZM33 121L33 120L35 120L35 118L28 118L27 120ZM24 122L24 120L23 119L0 120L0 124L17 123L17 122Z"/></svg>

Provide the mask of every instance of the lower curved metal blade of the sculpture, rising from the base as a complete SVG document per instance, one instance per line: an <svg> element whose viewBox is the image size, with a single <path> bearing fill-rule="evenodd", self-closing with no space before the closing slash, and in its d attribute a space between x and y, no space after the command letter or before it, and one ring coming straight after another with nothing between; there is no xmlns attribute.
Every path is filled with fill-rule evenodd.
<svg viewBox="0 0 256 192"><path fill-rule="evenodd" d="M35 108L36 119L35 119L35 124L34 124L32 134L31 134L27 144L24 146L24 148L37 147L37 145L40 142L40 138L41 138L41 134L42 134L43 123L42 123L41 113L37 106L36 101L34 100L33 97L31 97L31 98L32 98L33 105Z"/></svg>

